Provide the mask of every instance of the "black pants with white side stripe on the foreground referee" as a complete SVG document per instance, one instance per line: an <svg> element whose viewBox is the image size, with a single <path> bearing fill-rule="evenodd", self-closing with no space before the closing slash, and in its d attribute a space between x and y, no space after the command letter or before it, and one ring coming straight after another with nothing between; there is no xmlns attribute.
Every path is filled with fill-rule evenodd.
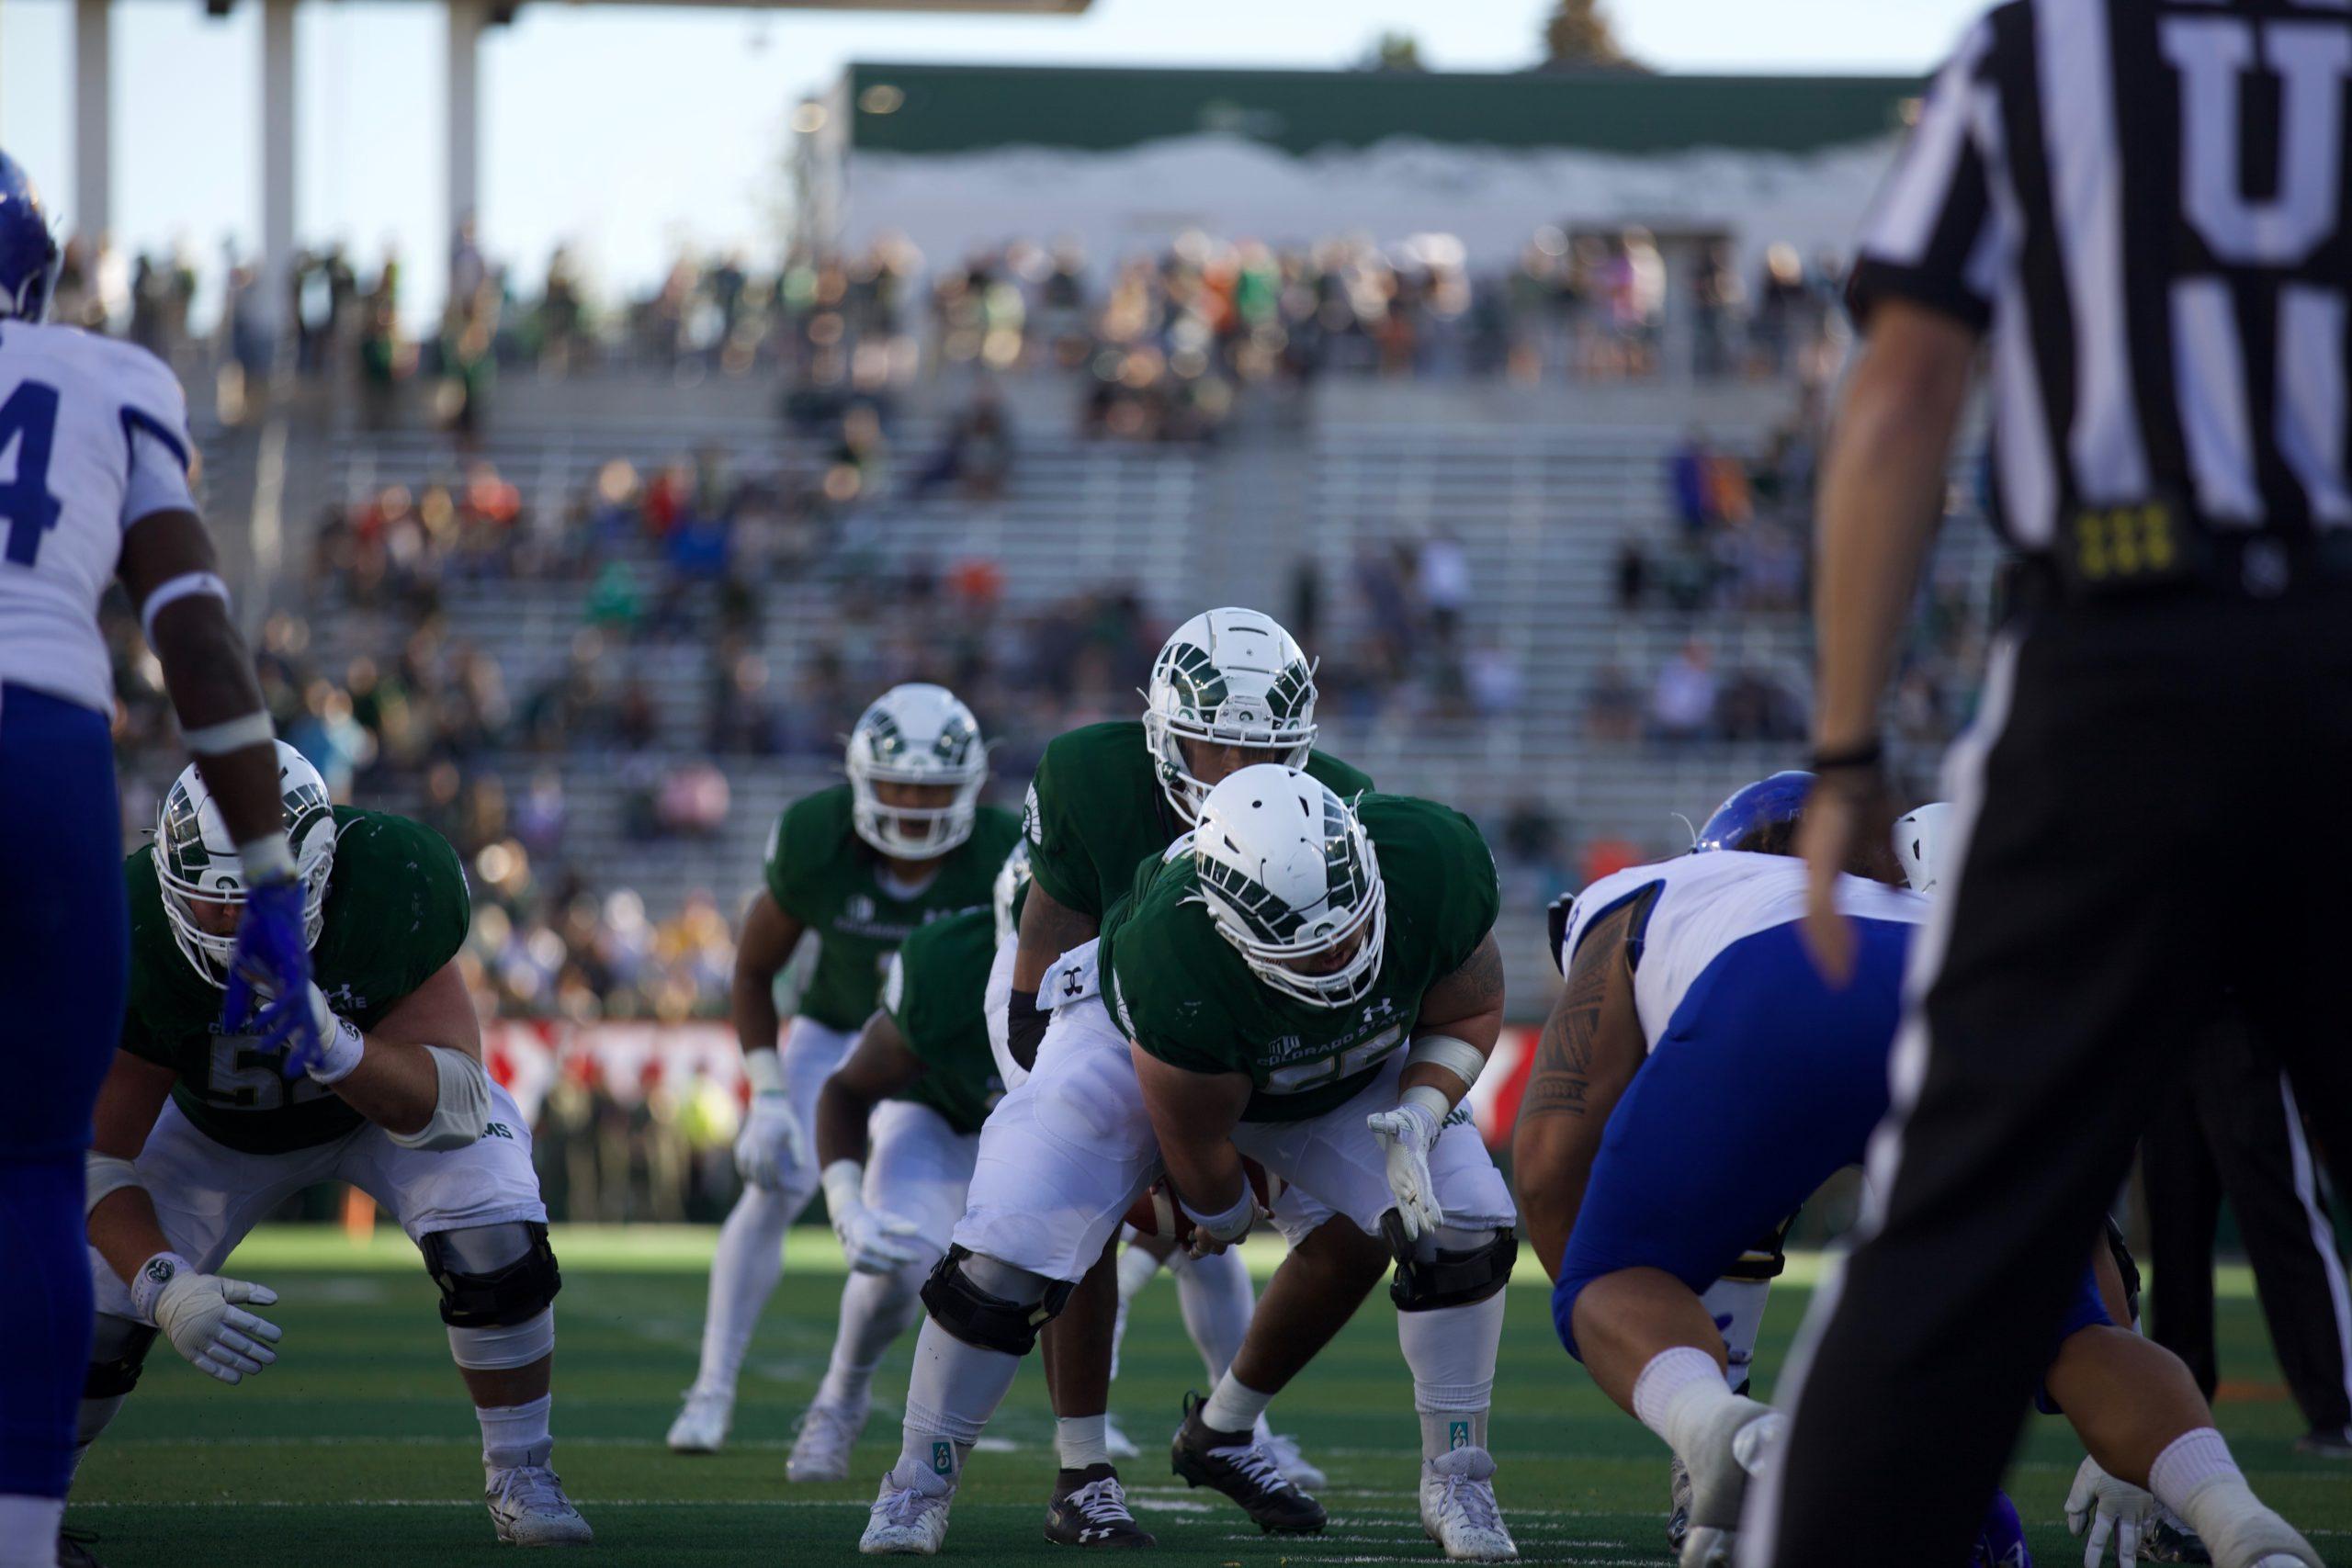
<svg viewBox="0 0 2352 1568"><path fill-rule="evenodd" d="M2305 1107L2352 1114L2352 590L2027 609L1950 773L1959 877L1915 959L1872 1222L1816 1298L1743 1568L1964 1561L2225 987Z"/></svg>

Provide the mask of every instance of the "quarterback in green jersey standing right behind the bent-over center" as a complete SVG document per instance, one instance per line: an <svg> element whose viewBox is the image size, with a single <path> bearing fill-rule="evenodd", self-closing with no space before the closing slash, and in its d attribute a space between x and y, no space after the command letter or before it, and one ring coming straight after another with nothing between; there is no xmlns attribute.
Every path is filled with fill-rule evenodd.
<svg viewBox="0 0 2352 1568"><path fill-rule="evenodd" d="M1192 827L1211 785L1254 762L1284 762L1343 797L1371 788L1371 778L1315 750L1315 665L1261 611L1223 607L1178 625L1152 658L1143 698L1141 719L1073 729L1056 736L1037 762L1023 825L1033 884L1021 907L1021 943L990 971L990 1011L1004 1013L1007 1056L1000 1065L1007 1086L1028 1077L1044 1039L1054 999L1047 997L1040 1006L1037 987L1047 971L1098 936L1103 914L1127 893L1136 865L1160 856ZM1345 1225L1322 1234L1312 1253L1336 1281L1352 1281L1359 1300L1388 1265L1376 1241ZM1202 1361L1228 1368L1251 1321L1242 1260L1190 1260L1176 1274L1176 1291ZM1279 1300L1275 1312L1279 1314ZM1279 1359L1301 1340L1277 1333L1268 1342ZM1096 1530L1089 1542L1115 1540L1101 1535L1108 1528L1101 1519L1080 1519L1063 1505L1080 1488L1103 1495L1094 1479L1112 1460L1108 1410L1115 1349L1117 1265L1105 1253L1044 1331L1054 1443L1061 1458L1054 1500L1047 1505L1049 1535ZM1261 1387L1277 1380L1272 1371L1258 1375ZM1263 1420L1244 1425L1251 1425L1272 1465L1258 1467L1270 1483L1319 1479L1298 1458L1296 1443L1277 1436Z"/></svg>

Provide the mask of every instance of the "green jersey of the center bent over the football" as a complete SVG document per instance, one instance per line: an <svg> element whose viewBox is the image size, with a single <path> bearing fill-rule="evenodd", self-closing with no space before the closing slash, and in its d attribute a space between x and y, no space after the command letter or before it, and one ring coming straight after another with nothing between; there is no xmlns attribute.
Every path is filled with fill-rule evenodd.
<svg viewBox="0 0 2352 1568"><path fill-rule="evenodd" d="M1364 1088L1411 1039L1421 997L1470 961L1503 907L1477 825L1409 795L1357 806L1381 856L1388 938L1371 992L1343 1009L1284 997L1218 936L1190 856L1136 867L1098 952L1103 999L1127 1037L1188 1072L1247 1072L1244 1121L1305 1121Z"/></svg>

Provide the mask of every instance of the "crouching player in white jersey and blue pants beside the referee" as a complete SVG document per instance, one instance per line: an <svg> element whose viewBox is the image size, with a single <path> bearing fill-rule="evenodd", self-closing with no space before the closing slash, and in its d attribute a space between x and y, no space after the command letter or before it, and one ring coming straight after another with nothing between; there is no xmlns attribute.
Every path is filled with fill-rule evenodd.
<svg viewBox="0 0 2352 1568"><path fill-rule="evenodd" d="M1837 889L1856 971L1828 985L1799 940L1806 867L1792 851L1809 790L1806 773L1748 785L1700 830L1703 853L1585 889L1515 1133L1562 1345L1691 1472L1684 1568L1731 1563L1748 1479L1780 1432L1778 1413L1726 1385L1698 1291L1863 1161L1903 1070L1889 1053L1929 910L1900 889L1891 842L1863 846ZM2150 1481L2216 1563L2317 1568L2246 1486L2187 1368L2117 1326L2107 1298L2122 1284L2098 1272L2084 1269L2053 1333L2051 1408L2105 1474ZM2105 1500L2098 1512L2112 1514Z"/></svg>

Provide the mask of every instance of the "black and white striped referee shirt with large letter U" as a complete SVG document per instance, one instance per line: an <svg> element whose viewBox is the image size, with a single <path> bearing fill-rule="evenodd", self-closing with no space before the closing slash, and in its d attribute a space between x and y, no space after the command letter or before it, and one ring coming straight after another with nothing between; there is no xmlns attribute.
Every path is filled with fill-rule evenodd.
<svg viewBox="0 0 2352 1568"><path fill-rule="evenodd" d="M2352 0L2011 0L1863 230L1886 296L1992 331L1997 512L2352 527Z"/></svg>

